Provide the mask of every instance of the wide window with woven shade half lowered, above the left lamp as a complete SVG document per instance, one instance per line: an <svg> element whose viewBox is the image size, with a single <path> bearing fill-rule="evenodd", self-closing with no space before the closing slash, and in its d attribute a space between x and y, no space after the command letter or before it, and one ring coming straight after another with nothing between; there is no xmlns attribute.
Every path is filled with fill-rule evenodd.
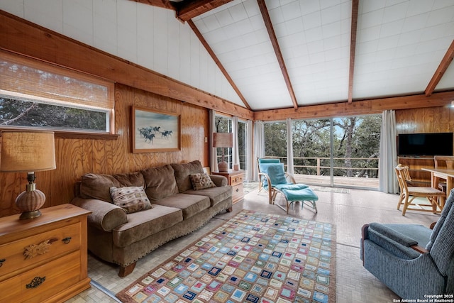
<svg viewBox="0 0 454 303"><path fill-rule="evenodd" d="M0 127L112 133L114 83L0 51Z"/></svg>

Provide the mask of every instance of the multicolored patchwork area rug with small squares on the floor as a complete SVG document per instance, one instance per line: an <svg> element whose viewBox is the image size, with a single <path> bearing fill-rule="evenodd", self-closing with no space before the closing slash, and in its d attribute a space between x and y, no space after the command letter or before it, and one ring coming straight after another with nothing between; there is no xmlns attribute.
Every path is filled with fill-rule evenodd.
<svg viewBox="0 0 454 303"><path fill-rule="evenodd" d="M240 211L118 294L122 302L336 302L336 227Z"/></svg>

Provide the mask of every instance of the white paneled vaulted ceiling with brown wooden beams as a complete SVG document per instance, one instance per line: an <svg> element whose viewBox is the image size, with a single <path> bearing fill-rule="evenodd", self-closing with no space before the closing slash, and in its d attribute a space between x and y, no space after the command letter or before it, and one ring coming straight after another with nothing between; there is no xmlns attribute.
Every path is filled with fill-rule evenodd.
<svg viewBox="0 0 454 303"><path fill-rule="evenodd" d="M454 89L451 0L131 0L175 11L253 111Z"/></svg>

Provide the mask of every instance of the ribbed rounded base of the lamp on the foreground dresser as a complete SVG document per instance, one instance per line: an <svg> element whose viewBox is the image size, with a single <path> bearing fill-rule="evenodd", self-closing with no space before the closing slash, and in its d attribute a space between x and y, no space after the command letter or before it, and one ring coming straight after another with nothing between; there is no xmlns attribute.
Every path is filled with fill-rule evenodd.
<svg viewBox="0 0 454 303"><path fill-rule="evenodd" d="M30 184L27 184L30 185ZM33 183L34 185L34 183ZM27 187L25 192L21 192L16 198L16 206L22 211L19 219L33 219L41 215L38 210L45 202L45 194L34 187Z"/></svg>

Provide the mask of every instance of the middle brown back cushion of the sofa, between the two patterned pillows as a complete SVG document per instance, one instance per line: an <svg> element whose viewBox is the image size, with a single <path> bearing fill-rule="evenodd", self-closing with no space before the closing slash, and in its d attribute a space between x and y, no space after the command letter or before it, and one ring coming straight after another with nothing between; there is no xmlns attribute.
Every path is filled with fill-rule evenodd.
<svg viewBox="0 0 454 303"><path fill-rule="evenodd" d="M142 175L145 178L145 192L150 200L157 201L178 194L172 165L150 167L142 170Z"/></svg>

